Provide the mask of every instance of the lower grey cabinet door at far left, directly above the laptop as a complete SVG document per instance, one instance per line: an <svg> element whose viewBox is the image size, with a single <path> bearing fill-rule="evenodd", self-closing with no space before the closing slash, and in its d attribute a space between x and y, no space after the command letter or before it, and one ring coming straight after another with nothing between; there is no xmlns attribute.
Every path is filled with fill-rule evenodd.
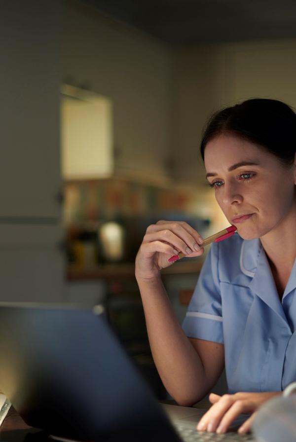
<svg viewBox="0 0 296 442"><path fill-rule="evenodd" d="M65 299L62 229L0 224L0 301Z"/></svg>

